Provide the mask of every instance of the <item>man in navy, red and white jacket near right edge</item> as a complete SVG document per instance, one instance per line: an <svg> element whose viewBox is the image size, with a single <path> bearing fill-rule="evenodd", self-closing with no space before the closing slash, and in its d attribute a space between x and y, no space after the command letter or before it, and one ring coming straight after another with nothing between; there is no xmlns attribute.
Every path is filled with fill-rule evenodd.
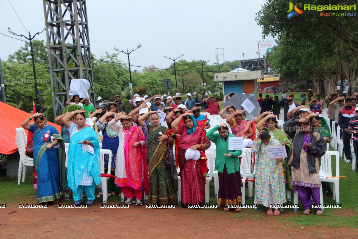
<svg viewBox="0 0 358 239"><path fill-rule="evenodd" d="M342 129L343 151L347 159L346 163L352 162L350 155L350 134L348 133L349 121L355 116L355 109L352 107L352 99L349 97L344 99L345 106L338 113L338 125Z"/></svg>

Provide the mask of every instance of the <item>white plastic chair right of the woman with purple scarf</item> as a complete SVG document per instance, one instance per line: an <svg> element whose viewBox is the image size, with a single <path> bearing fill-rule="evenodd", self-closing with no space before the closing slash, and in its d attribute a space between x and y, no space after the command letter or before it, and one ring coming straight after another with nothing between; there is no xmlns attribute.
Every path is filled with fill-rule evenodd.
<svg viewBox="0 0 358 239"><path fill-rule="evenodd" d="M324 172L325 177L332 177L332 156L336 157L335 176L339 177L339 155L337 151L326 151L326 154L322 156L320 169ZM336 201L336 204L339 204L339 178L321 178L321 182L333 183L333 200Z"/></svg>

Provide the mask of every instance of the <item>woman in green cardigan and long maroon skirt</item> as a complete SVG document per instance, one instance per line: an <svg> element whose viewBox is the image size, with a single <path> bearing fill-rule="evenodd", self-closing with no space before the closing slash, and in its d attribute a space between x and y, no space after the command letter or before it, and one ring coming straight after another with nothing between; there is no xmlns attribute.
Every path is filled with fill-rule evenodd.
<svg viewBox="0 0 358 239"><path fill-rule="evenodd" d="M219 133L215 133L216 131ZM228 150L228 138L236 137L229 133L229 128L224 123L219 123L206 135L216 144L215 169L219 173L218 204L225 205L224 211L229 211L229 205L241 205L241 175L238 156L242 150ZM236 207L237 212L241 211Z"/></svg>

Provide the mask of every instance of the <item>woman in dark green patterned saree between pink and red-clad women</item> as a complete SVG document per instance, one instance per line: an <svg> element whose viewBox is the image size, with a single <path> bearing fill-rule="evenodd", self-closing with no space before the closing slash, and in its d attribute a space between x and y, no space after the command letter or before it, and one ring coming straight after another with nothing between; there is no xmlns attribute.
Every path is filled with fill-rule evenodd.
<svg viewBox="0 0 358 239"><path fill-rule="evenodd" d="M144 119L149 117L150 123ZM172 205L175 204L175 192L178 175L176 172L175 158L170 145L174 143L173 133L168 128L160 125L158 111L149 111L138 119L142 126L145 140L148 162L149 182L149 205Z"/></svg>

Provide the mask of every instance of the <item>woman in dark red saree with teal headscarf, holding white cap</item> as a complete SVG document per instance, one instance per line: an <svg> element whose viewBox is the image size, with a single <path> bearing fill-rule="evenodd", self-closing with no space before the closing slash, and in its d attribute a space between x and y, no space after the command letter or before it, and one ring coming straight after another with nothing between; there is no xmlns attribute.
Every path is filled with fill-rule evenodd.
<svg viewBox="0 0 358 239"><path fill-rule="evenodd" d="M184 120L184 125L180 124ZM205 137L205 124L197 125L192 113L185 113L171 123L171 128L176 134L180 134L179 167L182 181L181 196L182 206L205 204L205 176L208 171L205 149L210 147L210 141ZM187 149L200 151L200 158L195 161L186 159Z"/></svg>

